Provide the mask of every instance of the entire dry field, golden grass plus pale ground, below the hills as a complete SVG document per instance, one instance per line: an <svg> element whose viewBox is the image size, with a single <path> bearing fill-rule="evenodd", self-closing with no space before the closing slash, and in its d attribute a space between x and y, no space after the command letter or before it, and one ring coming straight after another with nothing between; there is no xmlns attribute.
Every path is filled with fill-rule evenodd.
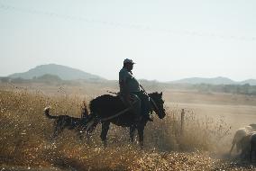
<svg viewBox="0 0 256 171"><path fill-rule="evenodd" d="M256 121L256 97L164 90L167 116L145 130L145 148L128 141L128 129L111 126L108 148L65 130L52 141L53 114L80 116L81 105L115 86L0 84L0 166L2 170L252 170L246 160L228 157L233 131ZM151 90L150 90L151 91ZM180 111L186 111L183 134Z"/></svg>

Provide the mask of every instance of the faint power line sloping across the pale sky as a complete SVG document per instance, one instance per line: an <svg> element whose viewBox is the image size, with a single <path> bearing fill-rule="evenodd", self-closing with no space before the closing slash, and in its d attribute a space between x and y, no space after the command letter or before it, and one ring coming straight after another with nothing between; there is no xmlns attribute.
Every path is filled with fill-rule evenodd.
<svg viewBox="0 0 256 171"><path fill-rule="evenodd" d="M212 37L212 38L218 38L218 39L224 39L224 40L243 40L243 41L256 40L256 37L244 37L244 36L234 36L234 35L226 36L226 35L219 35L215 33L202 33L198 31L174 31L170 29L155 29L151 26L142 25L142 24L125 24L125 23L107 22L107 21L101 21L96 19L90 19L82 16L65 15L65 14L57 14L52 12L44 12L44 11L39 11L34 9L17 8L8 4L0 4L0 9L27 13L27 14L42 14L42 15L47 15L50 17L60 18L64 20L71 20L71 21L78 21L78 22L92 23L92 24L101 24L101 25L107 25L111 27L120 27L123 29L133 29L133 30L142 30L142 31L160 31L163 33L169 33L173 35L189 35L189 36L210 37L210 38Z"/></svg>

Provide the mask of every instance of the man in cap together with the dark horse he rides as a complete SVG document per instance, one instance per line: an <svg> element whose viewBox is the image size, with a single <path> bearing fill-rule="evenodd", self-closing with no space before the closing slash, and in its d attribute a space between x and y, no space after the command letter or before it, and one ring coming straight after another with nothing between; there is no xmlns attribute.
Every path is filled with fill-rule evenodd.
<svg viewBox="0 0 256 171"><path fill-rule="evenodd" d="M151 120L149 113L154 111L160 119L166 115L162 93L147 94L133 76L133 60L124 59L123 68L119 72L119 95L103 94L89 103L90 114L87 118L87 138L102 124L100 138L106 147L106 136L110 123L117 126L130 127L130 139L133 142L134 132L138 130L140 146L143 147L143 131ZM141 86L142 87L142 86ZM152 121L152 120L151 120Z"/></svg>

